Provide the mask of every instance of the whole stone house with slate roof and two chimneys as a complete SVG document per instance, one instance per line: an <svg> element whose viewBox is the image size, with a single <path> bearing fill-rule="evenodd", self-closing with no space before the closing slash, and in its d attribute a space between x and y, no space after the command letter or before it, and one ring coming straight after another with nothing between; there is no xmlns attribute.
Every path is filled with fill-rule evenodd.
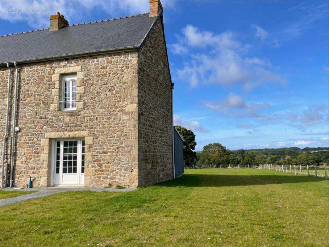
<svg viewBox="0 0 329 247"><path fill-rule="evenodd" d="M175 178L162 12L150 0L149 13L73 25L56 13L48 29L1 36L3 186Z"/></svg>

